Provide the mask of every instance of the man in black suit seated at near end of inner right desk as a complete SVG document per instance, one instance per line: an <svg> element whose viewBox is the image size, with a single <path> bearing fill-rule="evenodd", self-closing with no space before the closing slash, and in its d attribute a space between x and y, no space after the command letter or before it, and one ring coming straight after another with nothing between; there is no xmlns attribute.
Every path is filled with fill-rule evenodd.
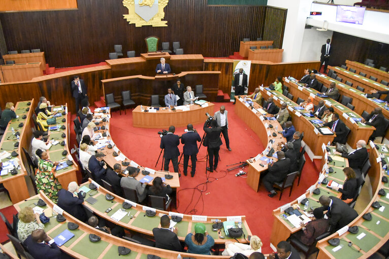
<svg viewBox="0 0 389 259"><path fill-rule="evenodd" d="M273 183L283 181L289 173L290 160L285 158L285 153L277 152L278 161L269 164L269 172L265 175L263 182L269 197L274 197L277 193L273 189Z"/></svg>

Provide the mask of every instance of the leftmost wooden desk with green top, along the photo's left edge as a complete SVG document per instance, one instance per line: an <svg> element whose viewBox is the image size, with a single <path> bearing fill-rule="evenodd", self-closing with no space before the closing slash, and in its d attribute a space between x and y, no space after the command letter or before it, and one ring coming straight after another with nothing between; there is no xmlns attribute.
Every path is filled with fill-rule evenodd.
<svg viewBox="0 0 389 259"><path fill-rule="evenodd" d="M28 102L31 102L31 104L27 105ZM34 125L33 120L31 120L31 116L34 113L34 107L34 99L30 101L20 101L16 103L15 113L17 116L19 116L19 118L12 119L9 122L4 132L2 141L0 142L2 154L5 154L5 152L11 154L12 151L18 153L17 157L4 158L2 160L2 162L6 162L16 158L18 164L20 165L20 169L17 170L18 173L15 175L11 175L11 173L8 173L7 175L0 176L0 183L3 183L4 187L8 190L12 203L17 203L29 197L27 184L24 179L24 176L27 175L27 170L23 164L26 161L26 158L24 155L22 156L22 147L25 148L29 146L31 136L33 135L32 128L34 127ZM26 111L27 108L29 108L28 112ZM23 115L27 116L26 119L22 119ZM19 128L20 123L24 124L21 128ZM11 128L14 128L15 132L20 133L18 147L14 146L15 142L18 140L13 134ZM26 150L28 150L28 148Z"/></svg>

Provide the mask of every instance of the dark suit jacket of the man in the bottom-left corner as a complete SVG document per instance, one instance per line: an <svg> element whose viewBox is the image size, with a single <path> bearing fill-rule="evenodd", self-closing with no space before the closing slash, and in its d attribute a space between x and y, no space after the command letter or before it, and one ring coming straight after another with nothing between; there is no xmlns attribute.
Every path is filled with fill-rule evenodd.
<svg viewBox="0 0 389 259"><path fill-rule="evenodd" d="M36 243L31 238L31 235L24 240L23 244L27 247L28 252L33 255L34 258L50 258L50 259L63 259L71 258L66 253L62 253L61 249L54 242L51 245Z"/></svg>

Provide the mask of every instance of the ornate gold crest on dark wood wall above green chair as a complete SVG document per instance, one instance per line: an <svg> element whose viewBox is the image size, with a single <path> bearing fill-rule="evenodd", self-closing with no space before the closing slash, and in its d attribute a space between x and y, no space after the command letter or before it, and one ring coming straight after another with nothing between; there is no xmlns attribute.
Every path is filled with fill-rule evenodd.
<svg viewBox="0 0 389 259"><path fill-rule="evenodd" d="M124 19L136 27L152 25L153 27L168 26L165 18L164 8L169 0L123 0L123 6L128 9Z"/></svg>

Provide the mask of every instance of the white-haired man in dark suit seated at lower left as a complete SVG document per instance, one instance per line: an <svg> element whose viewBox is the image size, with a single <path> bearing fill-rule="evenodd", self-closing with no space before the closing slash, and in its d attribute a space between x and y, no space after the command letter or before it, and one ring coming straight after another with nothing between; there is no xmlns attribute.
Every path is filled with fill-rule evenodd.
<svg viewBox="0 0 389 259"><path fill-rule="evenodd" d="M88 218L82 206L83 202L82 192L79 191L78 184L75 181L69 183L68 190L61 189L58 192L57 205L75 218L85 222Z"/></svg>

